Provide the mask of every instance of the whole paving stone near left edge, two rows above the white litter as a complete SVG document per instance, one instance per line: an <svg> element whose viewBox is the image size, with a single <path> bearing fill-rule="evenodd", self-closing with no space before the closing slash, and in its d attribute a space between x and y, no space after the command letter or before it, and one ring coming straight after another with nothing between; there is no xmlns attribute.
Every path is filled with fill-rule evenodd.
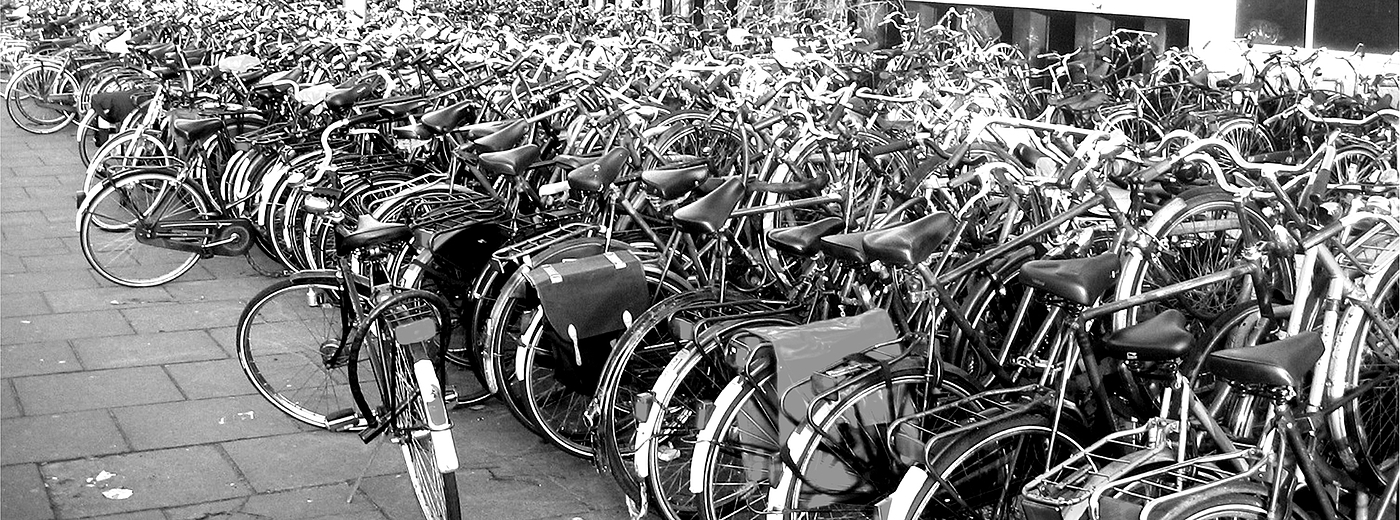
<svg viewBox="0 0 1400 520"><path fill-rule="evenodd" d="M59 413L179 401L161 367L134 367L14 378L25 413Z"/></svg>

